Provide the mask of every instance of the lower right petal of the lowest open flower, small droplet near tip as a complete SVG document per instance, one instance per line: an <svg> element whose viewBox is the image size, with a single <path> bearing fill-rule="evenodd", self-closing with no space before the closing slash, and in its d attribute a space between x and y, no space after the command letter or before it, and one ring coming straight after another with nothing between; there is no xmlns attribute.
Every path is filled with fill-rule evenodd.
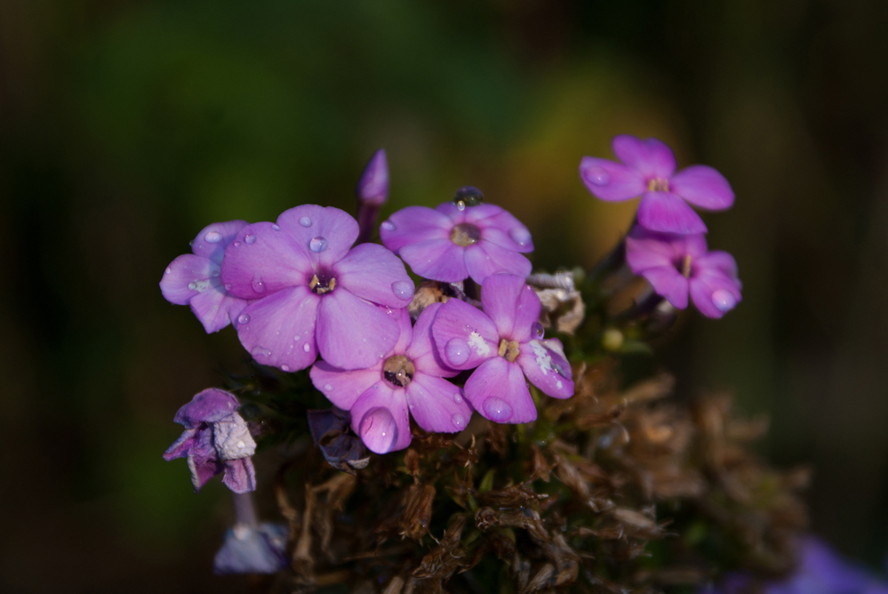
<svg viewBox="0 0 888 594"><path fill-rule="evenodd" d="M406 390L410 413L422 429L456 433L468 426L472 407L450 381L417 373Z"/></svg>

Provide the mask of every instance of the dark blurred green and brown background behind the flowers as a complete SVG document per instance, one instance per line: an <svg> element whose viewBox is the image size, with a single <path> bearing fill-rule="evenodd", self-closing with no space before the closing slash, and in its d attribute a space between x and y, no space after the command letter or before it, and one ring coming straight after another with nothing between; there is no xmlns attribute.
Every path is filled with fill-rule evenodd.
<svg viewBox="0 0 888 594"><path fill-rule="evenodd" d="M350 209L385 147L388 212L471 183L538 266L589 266L635 203L577 167L620 132L737 193L705 218L744 301L686 317L663 365L770 413L763 454L816 468L815 529L880 565L886 26L876 0L0 0L0 590L244 588L210 576L224 489L160 456L243 364L157 287L205 224Z"/></svg>

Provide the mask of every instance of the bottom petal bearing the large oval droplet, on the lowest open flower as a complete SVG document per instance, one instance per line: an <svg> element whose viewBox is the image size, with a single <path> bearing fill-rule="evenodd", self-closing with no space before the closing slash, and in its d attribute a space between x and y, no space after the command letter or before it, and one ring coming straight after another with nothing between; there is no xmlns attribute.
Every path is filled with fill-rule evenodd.
<svg viewBox="0 0 888 594"><path fill-rule="evenodd" d="M373 384L351 408L351 423L364 445L376 454L410 446L410 416L404 389L385 381Z"/></svg>

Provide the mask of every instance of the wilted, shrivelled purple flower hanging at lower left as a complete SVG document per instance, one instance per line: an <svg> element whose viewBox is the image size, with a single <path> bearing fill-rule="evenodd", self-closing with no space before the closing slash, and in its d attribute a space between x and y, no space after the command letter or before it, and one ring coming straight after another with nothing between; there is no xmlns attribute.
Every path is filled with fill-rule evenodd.
<svg viewBox="0 0 888 594"><path fill-rule="evenodd" d="M256 489L256 471L250 459L256 442L237 413L238 405L237 398L225 390L204 389L172 419L185 431L164 452L164 460L187 457L196 492L222 472L222 482L235 493Z"/></svg>

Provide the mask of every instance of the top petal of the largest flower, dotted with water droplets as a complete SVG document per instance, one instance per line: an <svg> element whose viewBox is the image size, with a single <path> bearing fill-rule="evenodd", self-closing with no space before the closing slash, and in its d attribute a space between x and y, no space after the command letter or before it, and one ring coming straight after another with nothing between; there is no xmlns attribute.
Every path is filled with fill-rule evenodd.
<svg viewBox="0 0 888 594"><path fill-rule="evenodd" d="M350 214L332 206L296 206L281 213L277 225L315 269L330 268L344 258L359 232Z"/></svg>

